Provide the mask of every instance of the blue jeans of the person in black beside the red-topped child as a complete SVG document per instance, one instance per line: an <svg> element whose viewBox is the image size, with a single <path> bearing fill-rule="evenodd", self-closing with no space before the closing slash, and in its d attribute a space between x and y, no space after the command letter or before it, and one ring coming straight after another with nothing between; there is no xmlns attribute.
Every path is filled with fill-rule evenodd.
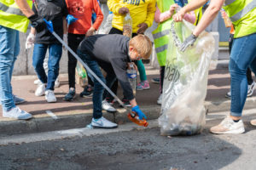
<svg viewBox="0 0 256 170"><path fill-rule="evenodd" d="M44 71L44 58L49 48L48 59L48 77ZM59 76L59 63L61 60L62 46L61 44L41 44L36 43L33 50L32 65L38 74L38 78L41 82L47 83L46 90L54 90L55 80Z"/></svg>

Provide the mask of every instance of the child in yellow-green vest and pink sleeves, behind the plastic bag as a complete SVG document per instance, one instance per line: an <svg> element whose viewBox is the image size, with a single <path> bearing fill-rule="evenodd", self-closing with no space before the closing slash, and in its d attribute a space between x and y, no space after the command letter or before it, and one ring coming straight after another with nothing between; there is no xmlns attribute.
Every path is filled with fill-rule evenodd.
<svg viewBox="0 0 256 170"><path fill-rule="evenodd" d="M154 37L154 48L157 55L157 59L160 65L160 97L157 99L157 104L162 103L162 90L165 77L166 68L166 55L169 42L169 35L172 22L172 14L178 6L183 7L188 3L187 0L157 0L157 7L154 14L154 21L159 25L152 32ZM195 13L192 11L186 14L184 20L190 23L195 23Z"/></svg>

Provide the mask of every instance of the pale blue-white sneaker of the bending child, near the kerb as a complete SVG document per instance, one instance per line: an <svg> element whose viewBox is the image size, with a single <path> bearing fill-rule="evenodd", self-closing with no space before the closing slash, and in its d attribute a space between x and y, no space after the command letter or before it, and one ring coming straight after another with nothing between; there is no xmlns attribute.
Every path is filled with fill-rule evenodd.
<svg viewBox="0 0 256 170"><path fill-rule="evenodd" d="M116 128L118 125L114 122L108 121L103 116L99 119L92 118L90 125L94 128Z"/></svg>

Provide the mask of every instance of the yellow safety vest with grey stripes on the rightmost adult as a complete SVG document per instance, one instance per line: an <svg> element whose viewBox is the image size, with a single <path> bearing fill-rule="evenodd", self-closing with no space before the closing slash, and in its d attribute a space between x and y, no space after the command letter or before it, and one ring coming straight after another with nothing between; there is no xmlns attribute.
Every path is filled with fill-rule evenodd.
<svg viewBox="0 0 256 170"><path fill-rule="evenodd" d="M256 33L255 0L226 0L224 10L235 27L235 38Z"/></svg>

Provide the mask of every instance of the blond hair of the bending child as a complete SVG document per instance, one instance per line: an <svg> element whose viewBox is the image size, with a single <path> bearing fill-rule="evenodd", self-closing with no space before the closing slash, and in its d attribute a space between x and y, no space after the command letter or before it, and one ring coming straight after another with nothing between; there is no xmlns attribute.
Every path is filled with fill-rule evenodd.
<svg viewBox="0 0 256 170"><path fill-rule="evenodd" d="M143 34L138 34L136 37L131 38L130 45L143 56L143 59L148 59L152 53L152 42Z"/></svg>

